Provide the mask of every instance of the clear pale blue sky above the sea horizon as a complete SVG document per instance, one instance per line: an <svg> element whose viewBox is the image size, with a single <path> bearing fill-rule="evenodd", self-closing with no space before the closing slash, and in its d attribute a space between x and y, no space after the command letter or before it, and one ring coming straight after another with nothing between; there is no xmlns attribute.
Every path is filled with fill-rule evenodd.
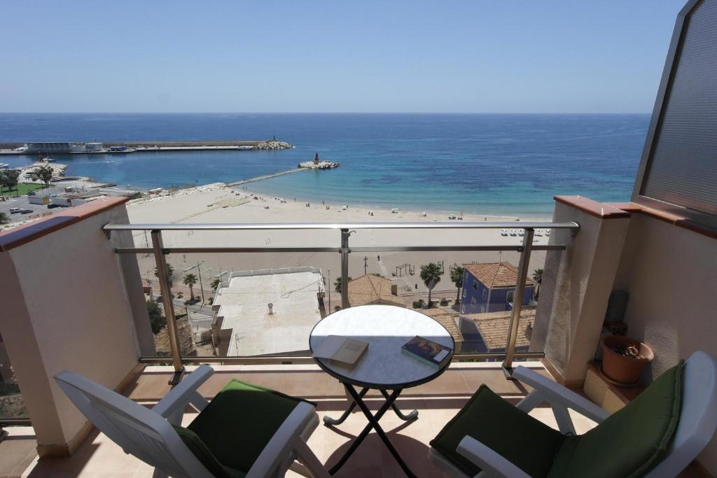
<svg viewBox="0 0 717 478"><path fill-rule="evenodd" d="M647 113L682 6L4 1L0 111Z"/></svg>

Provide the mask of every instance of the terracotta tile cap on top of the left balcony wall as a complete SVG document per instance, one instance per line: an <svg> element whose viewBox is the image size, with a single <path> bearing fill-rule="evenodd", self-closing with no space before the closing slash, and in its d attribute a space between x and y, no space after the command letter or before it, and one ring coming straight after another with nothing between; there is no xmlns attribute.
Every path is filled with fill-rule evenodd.
<svg viewBox="0 0 717 478"><path fill-rule="evenodd" d="M52 216L33 221L23 226L0 231L0 252L27 244L51 232L65 228L113 207L125 204L128 198L100 197L80 206L58 211Z"/></svg>

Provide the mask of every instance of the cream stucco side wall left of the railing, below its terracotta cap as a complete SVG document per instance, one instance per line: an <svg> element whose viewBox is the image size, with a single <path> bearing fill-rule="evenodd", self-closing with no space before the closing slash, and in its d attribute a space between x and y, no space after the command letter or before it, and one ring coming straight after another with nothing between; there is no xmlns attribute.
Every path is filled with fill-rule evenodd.
<svg viewBox="0 0 717 478"><path fill-rule="evenodd" d="M76 371L115 388L138 363L125 259L101 231L121 219L123 205L0 253L7 306L0 332L40 450L64 446L86 421L52 380L55 373Z"/></svg>

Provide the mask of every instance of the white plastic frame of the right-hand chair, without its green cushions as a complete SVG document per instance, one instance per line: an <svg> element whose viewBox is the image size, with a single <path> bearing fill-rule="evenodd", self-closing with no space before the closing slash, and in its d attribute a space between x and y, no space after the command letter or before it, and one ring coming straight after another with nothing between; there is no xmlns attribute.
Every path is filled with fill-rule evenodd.
<svg viewBox="0 0 717 478"><path fill-rule="evenodd" d="M533 388L533 391L516 406L528 413L540 403L550 403L558 428L563 434L575 434L568 408L597 423L601 423L609 416L607 411L586 398L528 368L516 368L513 378ZM673 441L662 462L650 470L645 477L676 477L707 446L715 429L717 429L717 361L711 355L698 351L685 363L682 409ZM475 478L530 478L522 469L470 436L465 436L460 441L457 451L483 470L475 475ZM440 451L431 448L429 457L450 476L467 477Z"/></svg>

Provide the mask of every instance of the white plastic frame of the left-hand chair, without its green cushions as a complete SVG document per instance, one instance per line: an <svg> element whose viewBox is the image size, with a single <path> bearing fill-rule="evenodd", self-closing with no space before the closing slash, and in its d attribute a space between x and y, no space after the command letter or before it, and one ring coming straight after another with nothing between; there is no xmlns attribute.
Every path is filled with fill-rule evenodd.
<svg viewBox="0 0 717 478"><path fill-rule="evenodd" d="M151 409L77 373L62 371L54 378L103 434L125 453L155 467L154 477L212 478L171 426L181 424L189 403L199 411L209 404L197 388L212 373L214 369L209 365L201 365ZM247 478L283 477L289 468L308 477L328 478L330 475L306 444L318 423L315 408L299 402L247 472Z"/></svg>

